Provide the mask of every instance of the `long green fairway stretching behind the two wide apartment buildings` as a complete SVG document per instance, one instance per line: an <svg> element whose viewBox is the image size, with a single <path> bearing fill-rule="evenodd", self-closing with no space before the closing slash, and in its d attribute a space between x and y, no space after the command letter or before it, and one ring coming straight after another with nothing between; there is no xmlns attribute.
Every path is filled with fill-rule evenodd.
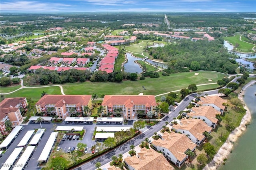
<svg viewBox="0 0 256 170"><path fill-rule="evenodd" d="M84 82L84 83L67 83L62 84L65 94L134 94L137 95L143 92L146 95L157 95L181 88L187 88L189 84L206 84L217 82L223 78L224 74L218 72L198 71L199 75L194 75L195 72L184 72L178 74L170 74L170 76L160 76L159 78L149 78L146 80L137 81L122 81L116 82ZM209 82L208 79L212 79ZM146 90L143 90L145 86ZM199 86L200 87L200 86ZM212 86L211 86L212 87ZM218 85L213 86L218 87ZM207 86L206 89L208 89ZM203 90L203 87L199 88ZM47 91L47 90L46 90Z"/></svg>

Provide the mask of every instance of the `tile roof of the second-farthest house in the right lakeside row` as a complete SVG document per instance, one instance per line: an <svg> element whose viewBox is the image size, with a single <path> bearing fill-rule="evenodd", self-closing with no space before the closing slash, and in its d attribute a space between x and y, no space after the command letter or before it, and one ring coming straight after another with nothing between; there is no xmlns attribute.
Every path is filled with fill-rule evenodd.
<svg viewBox="0 0 256 170"><path fill-rule="evenodd" d="M215 110L212 106L192 107L192 112L187 113L190 117L204 116L215 124L218 121L218 119L215 118L217 114L220 114L220 112Z"/></svg>

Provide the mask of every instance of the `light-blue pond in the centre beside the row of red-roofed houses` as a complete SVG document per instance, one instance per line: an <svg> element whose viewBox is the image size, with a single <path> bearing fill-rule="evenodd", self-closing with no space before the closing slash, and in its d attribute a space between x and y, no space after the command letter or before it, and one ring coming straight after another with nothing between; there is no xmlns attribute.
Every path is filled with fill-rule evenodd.
<svg viewBox="0 0 256 170"><path fill-rule="evenodd" d="M142 60L142 59L132 56L131 53L126 53L126 57L128 62L124 64L125 72L130 72L130 73L142 72L142 68L140 68L139 64L134 63L134 61Z"/></svg>

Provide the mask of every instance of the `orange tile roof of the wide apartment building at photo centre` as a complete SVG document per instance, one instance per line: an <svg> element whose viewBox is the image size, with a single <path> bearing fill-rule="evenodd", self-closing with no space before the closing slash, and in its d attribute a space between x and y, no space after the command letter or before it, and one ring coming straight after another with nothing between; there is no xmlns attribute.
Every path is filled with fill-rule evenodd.
<svg viewBox="0 0 256 170"><path fill-rule="evenodd" d="M131 103L136 105L148 104L150 106L156 106L156 98L153 95L105 95L102 106L110 106L110 104L130 105Z"/></svg>

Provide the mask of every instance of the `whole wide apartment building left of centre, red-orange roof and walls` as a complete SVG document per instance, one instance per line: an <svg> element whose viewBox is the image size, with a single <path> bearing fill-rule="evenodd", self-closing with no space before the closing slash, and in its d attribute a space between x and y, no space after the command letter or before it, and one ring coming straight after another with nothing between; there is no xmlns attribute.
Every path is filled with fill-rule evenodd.
<svg viewBox="0 0 256 170"><path fill-rule="evenodd" d="M82 113L84 106L92 108L92 95L44 95L37 103L38 113L58 115L66 119L72 113Z"/></svg>

